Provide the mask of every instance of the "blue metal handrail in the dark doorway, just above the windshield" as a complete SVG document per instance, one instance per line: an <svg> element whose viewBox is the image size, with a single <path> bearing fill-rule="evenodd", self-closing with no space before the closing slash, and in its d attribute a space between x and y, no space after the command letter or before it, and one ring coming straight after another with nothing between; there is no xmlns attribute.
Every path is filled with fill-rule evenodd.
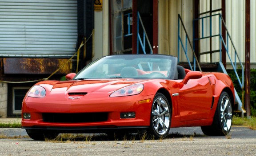
<svg viewBox="0 0 256 156"><path fill-rule="evenodd" d="M137 19L138 19L138 21L137 21L137 23L138 23L137 24L137 35L138 35L138 39L137 39L137 54L139 54L139 41L140 41L140 46L141 46L144 54L146 54L146 43L145 43L146 39L147 39L148 46L150 48L150 54L152 54L153 53L153 49L152 49L151 44L149 42L148 35L147 35L146 29L144 27L144 24L143 24L143 22L141 20L140 12L138 12L138 18ZM139 23L141 24L142 29L143 29L143 42L141 40L140 33L139 33Z"/></svg>

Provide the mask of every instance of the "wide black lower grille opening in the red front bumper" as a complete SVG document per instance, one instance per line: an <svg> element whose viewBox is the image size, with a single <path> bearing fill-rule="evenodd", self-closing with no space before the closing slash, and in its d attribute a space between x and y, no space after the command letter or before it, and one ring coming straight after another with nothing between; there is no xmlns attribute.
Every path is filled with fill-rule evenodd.
<svg viewBox="0 0 256 156"><path fill-rule="evenodd" d="M100 122L107 121L108 113L43 113L44 122Z"/></svg>

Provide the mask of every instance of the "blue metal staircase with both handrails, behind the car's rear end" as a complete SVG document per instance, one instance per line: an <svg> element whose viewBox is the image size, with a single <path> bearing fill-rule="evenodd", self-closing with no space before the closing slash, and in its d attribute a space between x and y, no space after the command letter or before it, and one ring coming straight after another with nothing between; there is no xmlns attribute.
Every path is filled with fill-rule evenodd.
<svg viewBox="0 0 256 156"><path fill-rule="evenodd" d="M212 18L214 17L215 20L212 20ZM219 30L217 33L212 32L212 24L213 22L216 22L218 20L218 25L219 25ZM231 39L231 35L229 34L226 24L223 20L223 17L221 16L221 14L215 14L212 16L204 16L204 17L200 17L198 19L194 19L193 20L193 30L195 30L195 22L200 23L200 37L199 38L195 38L195 31L193 31L193 45L195 43L195 41L200 41L202 39L211 39L212 38L219 38L219 50L214 50L214 51L209 51L209 52L201 52L199 53L199 57L201 55L206 55L209 54L212 55L212 53L219 53L219 61L218 66L219 66L219 71L228 74L223 63L222 63L222 56L221 56L221 51L222 51L222 46L224 46L224 49L226 51L226 54L228 56L228 60L230 61L230 64L232 65L232 68L236 74L236 78L238 80L238 83L240 85L240 89L244 90L244 66L242 64L242 62L240 61L239 56L237 55L237 51L236 51L236 47ZM225 27L225 34L226 34L226 41L224 41L223 36L222 36L222 30L221 30L221 25L224 25ZM205 30L205 25L208 25L208 29ZM182 28L182 29L181 29ZM184 37L185 34L185 37ZM183 37L183 38L182 38ZM185 40L185 44L183 42L183 40ZM188 54L188 43L190 48L192 49L192 56L193 56L193 61L191 62L189 60L189 56L191 54ZM182 48L180 48L182 47ZM183 50L184 55L187 58L188 64L191 68L191 70L196 70L196 68L198 68L201 71L200 68L200 62L197 60L196 55L195 55L195 51L194 48L195 46L192 46L192 43L188 37L188 33L184 27L184 23L180 17L180 15L178 15L178 61L180 60L180 51ZM212 63L212 62L211 62ZM242 71L241 73L241 78L239 77L237 70L238 70L238 66L240 67L240 70ZM238 104L238 111L241 112L241 116L244 117L244 113L246 113L244 106L243 106L243 102L240 100L240 97L238 96L236 89L235 89L235 102Z"/></svg>

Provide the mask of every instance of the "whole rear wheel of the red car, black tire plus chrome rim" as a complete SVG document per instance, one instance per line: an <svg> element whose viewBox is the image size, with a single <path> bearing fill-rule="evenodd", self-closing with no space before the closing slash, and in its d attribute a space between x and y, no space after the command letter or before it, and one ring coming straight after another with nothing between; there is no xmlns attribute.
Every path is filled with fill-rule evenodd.
<svg viewBox="0 0 256 156"><path fill-rule="evenodd" d="M226 106L225 106L226 105ZM224 136L228 135L232 127L233 104L227 92L220 94L218 105L211 126L201 126L205 135Z"/></svg>

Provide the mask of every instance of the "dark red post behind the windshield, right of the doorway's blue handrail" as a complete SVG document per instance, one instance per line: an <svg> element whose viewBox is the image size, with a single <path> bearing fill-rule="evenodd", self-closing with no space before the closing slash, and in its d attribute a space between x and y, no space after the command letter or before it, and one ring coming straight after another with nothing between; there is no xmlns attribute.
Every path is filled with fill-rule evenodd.
<svg viewBox="0 0 256 156"><path fill-rule="evenodd" d="M158 0L153 0L153 54L158 54Z"/></svg>

